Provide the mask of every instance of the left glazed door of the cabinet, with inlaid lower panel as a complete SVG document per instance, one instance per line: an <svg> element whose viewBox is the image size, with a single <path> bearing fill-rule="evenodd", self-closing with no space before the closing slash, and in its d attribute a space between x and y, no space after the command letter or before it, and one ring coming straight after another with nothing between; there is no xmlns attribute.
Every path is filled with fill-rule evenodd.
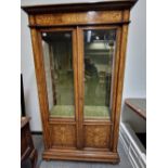
<svg viewBox="0 0 168 168"><path fill-rule="evenodd" d="M50 147L76 147L78 113L76 30L43 29L41 41Z"/></svg>

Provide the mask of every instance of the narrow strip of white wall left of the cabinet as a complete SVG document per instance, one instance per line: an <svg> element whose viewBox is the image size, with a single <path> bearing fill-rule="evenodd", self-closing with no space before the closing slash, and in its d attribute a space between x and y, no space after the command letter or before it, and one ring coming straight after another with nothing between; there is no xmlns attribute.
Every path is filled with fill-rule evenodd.
<svg viewBox="0 0 168 168"><path fill-rule="evenodd" d="M30 129L41 130L37 83L30 40L30 31L27 27L28 20L25 12L21 13L21 72L24 81L26 115L31 117Z"/></svg>

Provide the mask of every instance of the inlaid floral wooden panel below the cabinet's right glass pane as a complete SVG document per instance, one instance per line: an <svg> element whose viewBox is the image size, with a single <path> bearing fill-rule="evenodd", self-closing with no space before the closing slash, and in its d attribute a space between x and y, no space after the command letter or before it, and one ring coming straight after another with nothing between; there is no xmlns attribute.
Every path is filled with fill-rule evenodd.
<svg viewBox="0 0 168 168"><path fill-rule="evenodd" d="M111 126L85 126L85 147L108 148Z"/></svg>

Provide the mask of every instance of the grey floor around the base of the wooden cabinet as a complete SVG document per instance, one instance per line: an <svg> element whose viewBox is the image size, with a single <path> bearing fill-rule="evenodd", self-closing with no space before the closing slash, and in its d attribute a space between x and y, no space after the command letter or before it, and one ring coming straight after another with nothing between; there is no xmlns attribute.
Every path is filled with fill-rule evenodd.
<svg viewBox="0 0 168 168"><path fill-rule="evenodd" d="M132 168L120 142L118 145L120 163L118 165L104 164L104 163L62 161L62 160L46 161L41 159L41 153L43 151L42 137L34 135L33 138L35 146L38 150L37 168Z"/></svg>

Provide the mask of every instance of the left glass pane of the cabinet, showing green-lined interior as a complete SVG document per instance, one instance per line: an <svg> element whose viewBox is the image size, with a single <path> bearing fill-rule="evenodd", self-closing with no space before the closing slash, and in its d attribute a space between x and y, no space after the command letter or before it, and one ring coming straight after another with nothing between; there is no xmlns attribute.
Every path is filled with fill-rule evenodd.
<svg viewBox="0 0 168 168"><path fill-rule="evenodd" d="M74 117L74 69L70 31L42 34L50 116Z"/></svg>

